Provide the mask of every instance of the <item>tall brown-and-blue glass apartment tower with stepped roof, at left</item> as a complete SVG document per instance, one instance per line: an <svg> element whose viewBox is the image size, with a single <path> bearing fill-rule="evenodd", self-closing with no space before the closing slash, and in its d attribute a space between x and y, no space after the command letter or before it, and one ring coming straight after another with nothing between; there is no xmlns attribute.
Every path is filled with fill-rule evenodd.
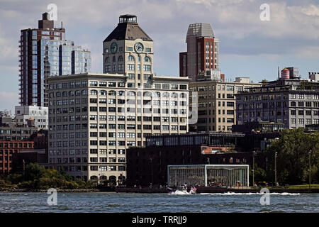
<svg viewBox="0 0 319 227"><path fill-rule="evenodd" d="M43 13L38 28L21 30L19 104L47 106L47 77L89 72L91 53L65 39L65 28Z"/></svg>

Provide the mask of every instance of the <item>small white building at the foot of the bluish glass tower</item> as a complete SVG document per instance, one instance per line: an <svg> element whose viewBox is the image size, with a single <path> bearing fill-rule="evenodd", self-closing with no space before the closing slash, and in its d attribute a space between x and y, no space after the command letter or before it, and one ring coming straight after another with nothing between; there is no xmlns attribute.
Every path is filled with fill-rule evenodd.
<svg viewBox="0 0 319 227"><path fill-rule="evenodd" d="M15 106L16 123L27 124L28 120L34 120L35 128L47 129L48 126L48 107L44 106Z"/></svg>

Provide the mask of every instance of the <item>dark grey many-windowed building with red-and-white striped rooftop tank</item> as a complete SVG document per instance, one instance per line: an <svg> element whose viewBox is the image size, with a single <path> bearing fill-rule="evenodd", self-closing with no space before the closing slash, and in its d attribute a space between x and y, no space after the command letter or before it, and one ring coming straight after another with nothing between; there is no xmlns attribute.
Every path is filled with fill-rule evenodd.
<svg viewBox="0 0 319 227"><path fill-rule="evenodd" d="M289 129L318 124L319 83L289 78L285 68L279 80L239 92L237 123L269 121L284 123L284 128Z"/></svg>

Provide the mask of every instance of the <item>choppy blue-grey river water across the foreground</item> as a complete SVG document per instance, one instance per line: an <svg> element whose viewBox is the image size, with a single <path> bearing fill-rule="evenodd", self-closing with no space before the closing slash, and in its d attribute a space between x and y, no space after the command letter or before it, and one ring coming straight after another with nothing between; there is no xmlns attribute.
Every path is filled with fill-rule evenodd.
<svg viewBox="0 0 319 227"><path fill-rule="evenodd" d="M49 194L0 192L0 212L319 212L319 194L117 194L57 193L57 205L47 205Z"/></svg>

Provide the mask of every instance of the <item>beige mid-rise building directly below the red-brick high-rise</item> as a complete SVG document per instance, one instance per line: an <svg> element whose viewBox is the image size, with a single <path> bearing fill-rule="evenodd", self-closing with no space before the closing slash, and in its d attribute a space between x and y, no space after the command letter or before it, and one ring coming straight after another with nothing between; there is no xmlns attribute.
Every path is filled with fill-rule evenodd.
<svg viewBox="0 0 319 227"><path fill-rule="evenodd" d="M191 82L191 95L197 92L198 121L190 131L232 131L236 122L235 94L262 84L250 82L247 77L236 77L234 82L203 80Z"/></svg>

